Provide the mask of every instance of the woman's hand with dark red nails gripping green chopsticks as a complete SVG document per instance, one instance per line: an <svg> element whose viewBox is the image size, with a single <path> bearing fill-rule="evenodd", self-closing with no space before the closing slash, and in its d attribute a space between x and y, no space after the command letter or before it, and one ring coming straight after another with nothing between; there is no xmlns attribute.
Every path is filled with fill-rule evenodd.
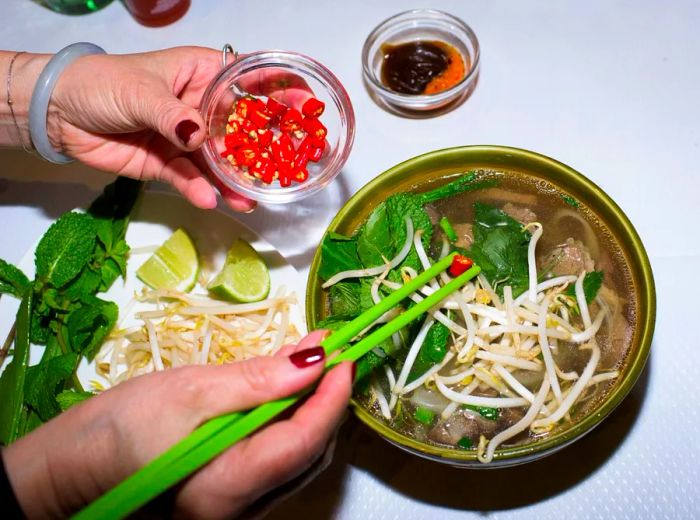
<svg viewBox="0 0 700 520"><path fill-rule="evenodd" d="M313 332L275 357L137 377L67 410L3 451L24 512L69 515L208 419L308 387L323 373L323 351L313 348L323 336ZM334 368L291 417L239 442L182 484L176 513L229 517L302 473L335 431L351 383L351 363Z"/></svg>

